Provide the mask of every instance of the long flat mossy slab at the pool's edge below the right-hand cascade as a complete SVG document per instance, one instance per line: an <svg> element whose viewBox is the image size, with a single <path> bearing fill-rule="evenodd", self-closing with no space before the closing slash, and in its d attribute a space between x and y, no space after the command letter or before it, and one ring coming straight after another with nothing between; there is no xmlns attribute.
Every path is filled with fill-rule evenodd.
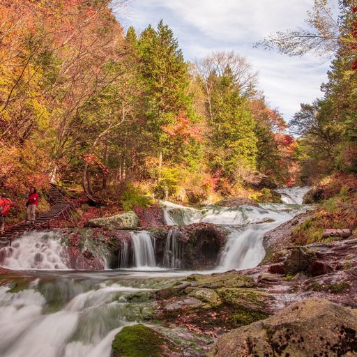
<svg viewBox="0 0 357 357"><path fill-rule="evenodd" d="M198 287L207 287L208 289L218 289L220 287L238 288L255 286L253 278L237 273L223 273L217 275L193 274L190 275L187 280L197 282Z"/></svg>

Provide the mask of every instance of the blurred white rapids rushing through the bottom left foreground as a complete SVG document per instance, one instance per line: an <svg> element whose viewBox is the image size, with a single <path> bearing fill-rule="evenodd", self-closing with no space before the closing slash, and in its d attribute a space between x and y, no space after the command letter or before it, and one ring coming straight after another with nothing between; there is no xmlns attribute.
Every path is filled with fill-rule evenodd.
<svg viewBox="0 0 357 357"><path fill-rule="evenodd" d="M50 314L36 286L15 294L0 287L0 356L109 357L116 333L132 324L123 309L126 294L145 289L98 287Z"/></svg>

